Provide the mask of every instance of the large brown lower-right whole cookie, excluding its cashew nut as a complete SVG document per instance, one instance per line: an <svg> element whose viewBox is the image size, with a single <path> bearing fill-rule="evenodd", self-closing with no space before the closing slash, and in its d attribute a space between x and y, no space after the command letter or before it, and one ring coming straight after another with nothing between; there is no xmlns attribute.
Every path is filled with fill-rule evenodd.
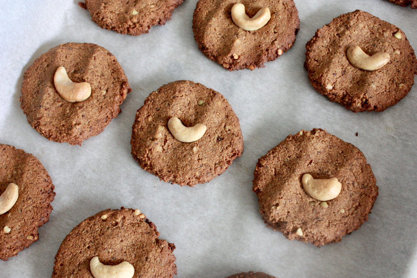
<svg viewBox="0 0 417 278"><path fill-rule="evenodd" d="M337 178L341 191L332 200L311 197L301 178ZM261 157L253 191L265 223L290 240L316 246L339 242L368 220L378 195L371 167L357 147L322 129L301 130ZM316 197L316 196L315 196Z"/></svg>

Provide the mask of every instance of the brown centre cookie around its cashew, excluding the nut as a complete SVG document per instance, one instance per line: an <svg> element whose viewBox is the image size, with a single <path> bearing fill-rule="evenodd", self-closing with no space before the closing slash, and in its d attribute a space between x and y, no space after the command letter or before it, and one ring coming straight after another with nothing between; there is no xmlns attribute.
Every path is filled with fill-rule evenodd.
<svg viewBox="0 0 417 278"><path fill-rule="evenodd" d="M194 142L180 142L168 129L178 117L184 126L206 125ZM243 152L239 119L222 94L200 83L175 81L152 92L137 111L132 155L141 167L165 182L188 186L209 182Z"/></svg>

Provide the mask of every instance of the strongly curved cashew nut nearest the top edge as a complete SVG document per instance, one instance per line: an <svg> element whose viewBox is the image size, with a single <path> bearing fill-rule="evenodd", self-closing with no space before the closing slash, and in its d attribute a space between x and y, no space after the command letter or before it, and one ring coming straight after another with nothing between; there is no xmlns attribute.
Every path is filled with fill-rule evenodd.
<svg viewBox="0 0 417 278"><path fill-rule="evenodd" d="M249 18L245 11L245 5L241 3L233 5L231 15L233 22L246 31L255 31L264 27L271 18L269 8L261 8L253 18Z"/></svg>

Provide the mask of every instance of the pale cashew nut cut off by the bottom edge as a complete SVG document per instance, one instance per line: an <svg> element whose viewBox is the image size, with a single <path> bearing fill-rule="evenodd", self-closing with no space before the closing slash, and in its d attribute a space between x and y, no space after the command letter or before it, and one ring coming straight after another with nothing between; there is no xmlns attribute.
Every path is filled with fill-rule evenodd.
<svg viewBox="0 0 417 278"><path fill-rule="evenodd" d="M98 256L90 260L90 271L94 278L132 278L135 268L129 262L123 261L118 265L104 265Z"/></svg>

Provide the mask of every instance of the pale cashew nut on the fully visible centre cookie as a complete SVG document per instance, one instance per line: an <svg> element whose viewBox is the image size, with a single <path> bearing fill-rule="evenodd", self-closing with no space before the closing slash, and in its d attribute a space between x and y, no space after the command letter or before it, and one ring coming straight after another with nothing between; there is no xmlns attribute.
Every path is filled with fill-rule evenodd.
<svg viewBox="0 0 417 278"><path fill-rule="evenodd" d="M207 126L205 124L196 124L195 126L186 127L181 123L180 119L173 116L168 121L168 129L178 141L190 143L203 137Z"/></svg>

